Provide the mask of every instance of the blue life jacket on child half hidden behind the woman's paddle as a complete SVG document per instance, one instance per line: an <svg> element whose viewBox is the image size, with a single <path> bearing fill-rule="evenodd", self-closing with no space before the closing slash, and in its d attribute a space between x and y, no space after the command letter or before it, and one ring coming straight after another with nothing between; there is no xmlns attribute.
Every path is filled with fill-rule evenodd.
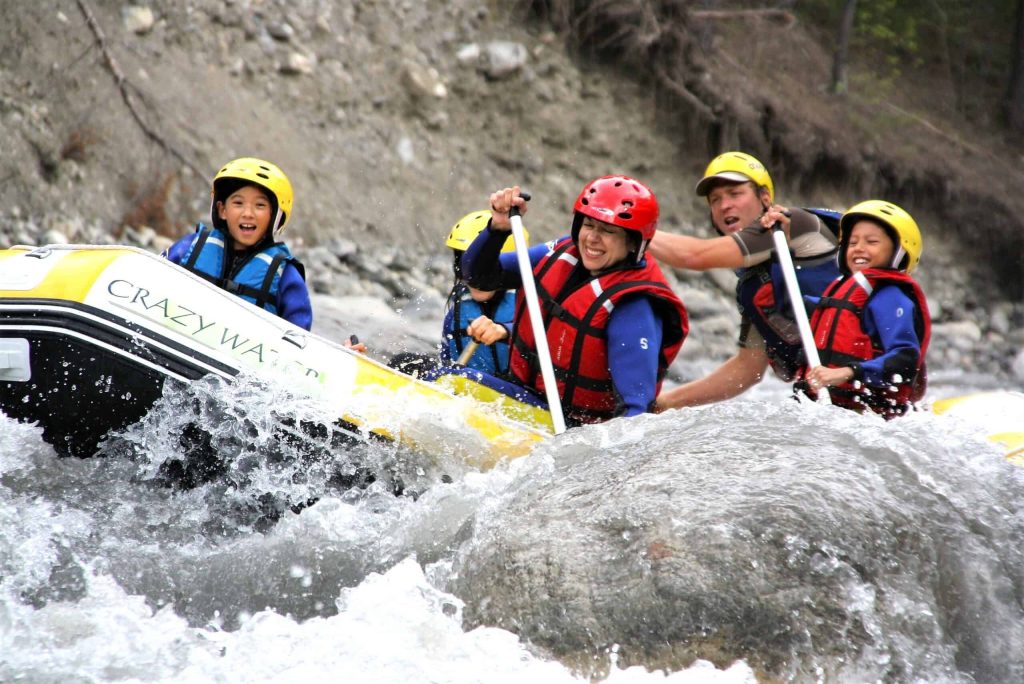
<svg viewBox="0 0 1024 684"><path fill-rule="evenodd" d="M457 285L449 296L449 309L444 314L442 362L459 357L472 339L466 334L466 328L481 315L511 327L515 315L515 292L499 292L488 301L477 302L469 294L469 288L465 284ZM509 368L508 338L486 347L481 345L466 367L493 375L506 373Z"/></svg>

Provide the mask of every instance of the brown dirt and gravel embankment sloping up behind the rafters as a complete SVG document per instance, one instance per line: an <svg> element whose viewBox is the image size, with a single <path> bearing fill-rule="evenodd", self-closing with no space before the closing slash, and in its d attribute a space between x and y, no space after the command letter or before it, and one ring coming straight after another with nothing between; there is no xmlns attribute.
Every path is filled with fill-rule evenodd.
<svg viewBox="0 0 1024 684"><path fill-rule="evenodd" d="M583 183L609 172L655 189L663 229L703 233L693 180L738 147L787 202L905 206L925 230L937 318L968 316L1013 349L1019 149L959 120L927 74L855 73L853 94L831 98L814 27L654 0L592 3L581 18L579 4L5 3L2 234L181 234L208 211L215 169L243 155L291 176L299 250L342 238L435 255L457 218L513 182L535 193L535 238L551 238Z"/></svg>

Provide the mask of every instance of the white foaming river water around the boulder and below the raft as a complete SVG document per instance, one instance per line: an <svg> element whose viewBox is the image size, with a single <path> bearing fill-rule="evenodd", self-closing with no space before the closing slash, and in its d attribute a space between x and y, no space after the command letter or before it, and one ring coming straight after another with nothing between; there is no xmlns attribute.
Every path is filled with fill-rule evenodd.
<svg viewBox="0 0 1024 684"><path fill-rule="evenodd" d="M954 375L938 392L959 393L976 380ZM686 439L705 455L709 444L732 455L766 440L805 447L808 421L798 421L805 428L799 434L786 426L791 412L807 409L795 408L780 385L764 385L713 408L713 421L687 421ZM760 433L744 418L752 408L764 424ZM464 605L445 591L452 559L475 541L470 523L524 486L530 459L557 461L562 438L486 473L443 459L425 466L387 444L282 445L275 417L323 411L244 383L169 388L147 419L104 446L105 458L88 460L58 459L38 427L0 414L0 681L587 681L513 633L464 629ZM674 440L671 448L679 448L678 420L673 413L645 417L633 438L666 450ZM969 550L977 555L967 562L990 586L977 595L971 587L959 591L968 594L965 605L990 606L990 633L978 638L1016 648L1007 658L1016 662L1011 671L1022 672L1024 469L1002 463L969 426L941 417L914 415L893 432L880 421L844 420L852 421L843 428L851 438L823 440L823 459L840 452L874 459L888 450L936 489L944 486L942 470L963 469L947 495L966 514L942 524L963 525L951 539L988 526L990 547ZM731 421L746 428L729 430ZM232 454L234 465L191 489L158 484L160 464L179 455L177 435L189 422L212 435L219 453ZM604 458L614 447L601 426L572 432L566 441L577 461L588 450ZM912 448L901 446L908 442ZM340 467L324 459L329 452ZM929 453L934 460L922 457ZM339 468L358 486L338 486ZM360 479L370 471L389 475ZM963 484L971 478L976 485ZM758 482L740 478L736 486L753 491ZM973 516L974 508L984 515ZM995 609L983 600L991 595ZM946 661L915 681L975 681L956 670L941 637L906 629L889 641L924 653L909 659ZM614 652L607 657L613 662ZM985 681L984 673L977 679ZM725 670L698 661L671 674L612 668L606 681L755 679L739 660Z"/></svg>

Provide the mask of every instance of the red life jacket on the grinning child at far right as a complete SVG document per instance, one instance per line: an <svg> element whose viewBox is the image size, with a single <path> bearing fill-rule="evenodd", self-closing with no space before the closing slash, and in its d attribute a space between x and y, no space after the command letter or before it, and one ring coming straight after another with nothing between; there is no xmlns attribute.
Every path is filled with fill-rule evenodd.
<svg viewBox="0 0 1024 684"><path fill-rule="evenodd" d="M886 418L895 418L905 414L910 402L924 396L928 384L925 354L932 337L932 317L921 286L900 271L865 268L837 281L825 290L811 316L811 331L821 364L828 368L842 368L880 356L885 350L864 332L863 313L874 291L887 285L895 285L913 300L914 329L921 341L916 373L884 389L869 388L854 381L828 388L828 394L836 405L854 411L866 407Z"/></svg>

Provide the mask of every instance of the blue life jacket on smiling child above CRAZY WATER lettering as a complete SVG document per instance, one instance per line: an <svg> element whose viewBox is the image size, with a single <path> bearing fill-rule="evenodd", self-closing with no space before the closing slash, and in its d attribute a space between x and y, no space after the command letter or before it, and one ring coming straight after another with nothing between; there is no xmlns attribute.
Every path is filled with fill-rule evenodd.
<svg viewBox="0 0 1024 684"><path fill-rule="evenodd" d="M181 265L219 288L278 314L278 290L285 266L291 263L305 277L302 264L284 243L264 241L233 259L226 259L224 232L202 223Z"/></svg>

